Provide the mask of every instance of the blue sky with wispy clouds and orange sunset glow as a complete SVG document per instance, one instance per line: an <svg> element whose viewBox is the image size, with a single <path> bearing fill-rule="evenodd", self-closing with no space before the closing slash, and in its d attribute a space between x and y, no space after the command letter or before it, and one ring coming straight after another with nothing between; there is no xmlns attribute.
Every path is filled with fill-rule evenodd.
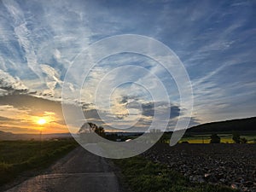
<svg viewBox="0 0 256 192"><path fill-rule="evenodd" d="M155 109L170 112L170 130L180 116L191 118L190 126L255 116L255 9L253 0L2 0L0 131L36 133L42 128L38 119L44 118L44 132L67 132L61 90L68 68L91 44L123 34L154 38L172 49L189 75L193 113L186 113L189 104L181 105L175 79L157 61L121 53L99 61L87 77L73 77L84 80L81 100L70 96L65 104L81 106L88 121L108 129L132 123L132 131L145 131ZM142 67L146 70L139 72ZM169 104L152 98L150 90L160 89L152 74L166 87ZM111 87L128 77L133 81ZM69 87L77 89L76 81ZM96 96L102 103L108 98L111 110L96 106Z"/></svg>

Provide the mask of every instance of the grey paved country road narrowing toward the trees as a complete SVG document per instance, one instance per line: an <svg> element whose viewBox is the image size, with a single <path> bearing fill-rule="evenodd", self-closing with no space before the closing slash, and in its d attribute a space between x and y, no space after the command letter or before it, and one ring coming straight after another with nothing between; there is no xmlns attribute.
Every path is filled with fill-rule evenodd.
<svg viewBox="0 0 256 192"><path fill-rule="evenodd" d="M44 174L32 177L7 192L123 192L113 166L102 157L76 148Z"/></svg>

